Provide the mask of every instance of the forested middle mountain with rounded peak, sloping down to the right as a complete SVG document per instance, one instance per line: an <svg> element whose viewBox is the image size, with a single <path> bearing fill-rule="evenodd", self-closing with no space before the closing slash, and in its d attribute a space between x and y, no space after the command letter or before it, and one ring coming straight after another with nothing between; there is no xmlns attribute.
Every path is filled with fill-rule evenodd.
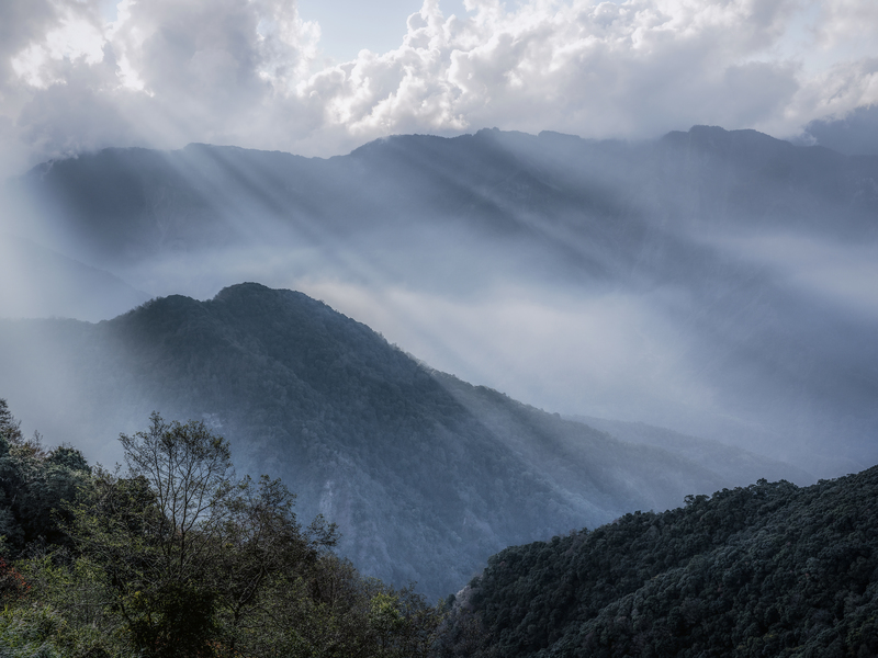
<svg viewBox="0 0 878 658"><path fill-rule="evenodd" d="M359 569L431 597L509 544L728 484L434 371L320 302L254 283L97 325L0 321L0 390L90 458L117 460L113 436L153 410L204 420L241 470L297 492L302 519L338 523Z"/></svg>

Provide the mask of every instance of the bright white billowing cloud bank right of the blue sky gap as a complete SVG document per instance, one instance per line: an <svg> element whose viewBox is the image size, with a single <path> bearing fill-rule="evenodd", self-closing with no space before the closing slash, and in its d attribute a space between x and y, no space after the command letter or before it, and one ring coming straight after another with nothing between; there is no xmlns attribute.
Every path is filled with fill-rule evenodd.
<svg viewBox="0 0 878 658"><path fill-rule="evenodd" d="M598 136L651 136L693 123L739 127L770 116L798 89L787 63L747 61L773 43L786 2L472 3L465 20L435 0L403 45L322 71L303 84L327 122L376 136L483 125Z"/></svg>

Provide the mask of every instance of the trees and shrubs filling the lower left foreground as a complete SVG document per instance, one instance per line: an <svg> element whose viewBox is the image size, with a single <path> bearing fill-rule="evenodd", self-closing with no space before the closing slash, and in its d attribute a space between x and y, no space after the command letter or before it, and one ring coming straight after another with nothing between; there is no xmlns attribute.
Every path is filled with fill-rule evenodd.
<svg viewBox="0 0 878 658"><path fill-rule="evenodd" d="M121 438L127 468L25 440L0 400L0 656L424 656L441 621L359 576L278 480L202 423Z"/></svg>

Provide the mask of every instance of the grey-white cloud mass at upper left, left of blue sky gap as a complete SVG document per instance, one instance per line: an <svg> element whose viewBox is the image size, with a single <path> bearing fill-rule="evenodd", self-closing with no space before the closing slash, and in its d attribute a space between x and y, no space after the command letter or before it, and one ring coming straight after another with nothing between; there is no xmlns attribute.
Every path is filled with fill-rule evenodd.
<svg viewBox="0 0 878 658"><path fill-rule="evenodd" d="M95 2L19 4L0 15L23 31L2 50L0 138L27 163L110 145L269 146L319 36L281 0L122 0L112 23Z"/></svg>

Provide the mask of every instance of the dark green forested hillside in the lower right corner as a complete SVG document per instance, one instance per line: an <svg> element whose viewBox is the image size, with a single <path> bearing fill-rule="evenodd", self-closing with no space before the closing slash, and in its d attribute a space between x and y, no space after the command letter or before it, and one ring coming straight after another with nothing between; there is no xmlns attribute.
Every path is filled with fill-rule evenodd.
<svg viewBox="0 0 878 658"><path fill-rule="evenodd" d="M875 656L876 500L878 467L761 480L507 548L459 595L444 653Z"/></svg>

